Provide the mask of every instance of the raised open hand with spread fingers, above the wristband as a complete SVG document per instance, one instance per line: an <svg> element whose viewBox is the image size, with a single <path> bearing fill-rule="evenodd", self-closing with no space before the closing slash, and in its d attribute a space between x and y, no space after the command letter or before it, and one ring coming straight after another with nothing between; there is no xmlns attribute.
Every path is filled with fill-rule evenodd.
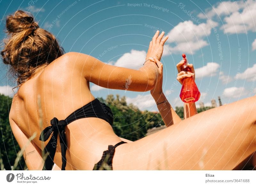
<svg viewBox="0 0 256 186"><path fill-rule="evenodd" d="M148 47L148 53L146 56L146 60L148 60L150 57L156 57L159 61L161 60L163 50L164 50L164 43L168 39L168 35L164 37L164 31L159 35L159 30L156 31L156 34L152 38L152 41L149 43Z"/></svg>

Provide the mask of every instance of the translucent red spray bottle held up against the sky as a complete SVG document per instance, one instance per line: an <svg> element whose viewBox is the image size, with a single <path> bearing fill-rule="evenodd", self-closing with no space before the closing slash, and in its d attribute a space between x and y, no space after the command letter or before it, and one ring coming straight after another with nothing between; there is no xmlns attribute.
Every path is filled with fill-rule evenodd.
<svg viewBox="0 0 256 186"><path fill-rule="evenodd" d="M191 69L187 66L188 59L185 54L182 54L184 65L182 66L183 70L186 72L191 72ZM200 97L200 92L196 86L195 81L193 80L193 76L184 78L181 91L180 91L180 99L184 103L194 103L198 101Z"/></svg>

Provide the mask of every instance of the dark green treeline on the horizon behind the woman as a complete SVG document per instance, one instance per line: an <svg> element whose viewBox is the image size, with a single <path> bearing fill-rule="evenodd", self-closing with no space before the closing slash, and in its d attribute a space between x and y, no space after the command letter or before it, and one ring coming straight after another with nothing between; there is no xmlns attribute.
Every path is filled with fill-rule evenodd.
<svg viewBox="0 0 256 186"><path fill-rule="evenodd" d="M113 130L117 136L136 141L147 134L147 130L164 125L159 113L140 111L134 105L127 105L125 97L108 95L106 99L98 99L108 105L114 117ZM16 142L9 123L9 112L12 98L0 94L0 167L1 170L11 170L20 147ZM208 110L211 107L198 109L198 112ZM184 118L183 107L176 107L180 118ZM19 161L16 170L24 170L26 165L23 157Z"/></svg>

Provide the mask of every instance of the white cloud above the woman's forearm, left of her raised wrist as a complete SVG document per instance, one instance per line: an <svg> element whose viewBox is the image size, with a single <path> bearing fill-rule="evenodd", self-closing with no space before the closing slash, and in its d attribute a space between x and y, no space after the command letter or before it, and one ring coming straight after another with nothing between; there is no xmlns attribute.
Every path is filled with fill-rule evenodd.
<svg viewBox="0 0 256 186"><path fill-rule="evenodd" d="M146 55L147 53L144 50L139 51L132 49L130 53L125 53L121 58L119 58L114 65L132 69L139 69L141 66L143 66Z"/></svg>

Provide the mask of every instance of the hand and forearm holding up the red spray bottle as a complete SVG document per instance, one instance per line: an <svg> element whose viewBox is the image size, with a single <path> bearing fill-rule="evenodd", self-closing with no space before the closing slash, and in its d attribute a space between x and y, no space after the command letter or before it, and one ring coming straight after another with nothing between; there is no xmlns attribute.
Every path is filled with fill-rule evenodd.
<svg viewBox="0 0 256 186"><path fill-rule="evenodd" d="M193 76L194 81L195 81L195 78L196 78L193 64L188 64L188 67L191 69L192 73L182 71L181 66L183 64L184 64L183 60L181 60L177 64L177 70L178 70L177 80L180 82L181 85L183 83L184 78ZM184 103L184 118L185 119L189 118L189 117L191 117L195 114L197 114L196 104L195 103Z"/></svg>

